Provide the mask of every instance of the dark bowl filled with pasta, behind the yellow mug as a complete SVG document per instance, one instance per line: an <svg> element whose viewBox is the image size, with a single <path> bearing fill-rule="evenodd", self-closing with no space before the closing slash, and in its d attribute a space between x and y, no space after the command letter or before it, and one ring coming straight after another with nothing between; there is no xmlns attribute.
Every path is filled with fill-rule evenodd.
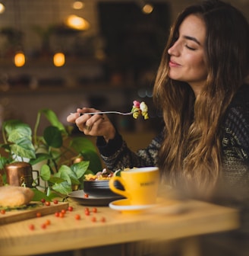
<svg viewBox="0 0 249 256"><path fill-rule="evenodd" d="M84 179L84 193L92 197L121 197L118 194L112 192L109 187L109 180L116 173L103 169L96 174L86 174ZM121 190L124 187L118 182L115 186Z"/></svg>

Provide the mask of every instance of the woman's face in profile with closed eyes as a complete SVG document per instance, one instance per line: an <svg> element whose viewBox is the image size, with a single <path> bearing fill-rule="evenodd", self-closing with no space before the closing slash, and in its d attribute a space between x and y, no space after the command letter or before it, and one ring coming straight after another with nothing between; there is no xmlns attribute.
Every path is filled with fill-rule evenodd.
<svg viewBox="0 0 249 256"><path fill-rule="evenodd" d="M188 82L194 94L205 85L207 69L204 55L206 26L197 15L191 14L181 23L178 38L169 48L169 77Z"/></svg>

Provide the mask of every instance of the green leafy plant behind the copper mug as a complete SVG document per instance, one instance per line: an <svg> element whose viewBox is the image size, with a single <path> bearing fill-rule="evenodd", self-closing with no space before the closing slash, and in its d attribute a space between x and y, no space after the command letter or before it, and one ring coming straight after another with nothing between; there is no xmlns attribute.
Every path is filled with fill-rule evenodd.
<svg viewBox="0 0 249 256"><path fill-rule="evenodd" d="M42 115L49 120L49 126L39 136L37 131ZM75 186L83 188L84 174L94 174L102 169L93 142L84 136L73 136L72 126L64 126L49 109L38 111L33 130L20 120L6 120L2 124L2 138L0 148L5 154L0 155L0 169L20 161L32 166L43 163L39 178L44 181L44 187L42 190L33 187L33 200L64 197Z"/></svg>

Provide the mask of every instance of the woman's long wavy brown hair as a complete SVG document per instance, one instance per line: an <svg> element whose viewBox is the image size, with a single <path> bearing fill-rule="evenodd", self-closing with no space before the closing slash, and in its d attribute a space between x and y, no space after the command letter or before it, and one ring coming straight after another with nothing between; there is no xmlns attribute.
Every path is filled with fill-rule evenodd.
<svg viewBox="0 0 249 256"><path fill-rule="evenodd" d="M169 48L184 18L196 14L206 24L208 75L202 93L169 78ZM162 109L165 140L159 168L169 183L213 190L222 171L221 122L235 92L248 75L249 27L236 8L215 0L191 5L178 15L169 34L154 85L154 101Z"/></svg>

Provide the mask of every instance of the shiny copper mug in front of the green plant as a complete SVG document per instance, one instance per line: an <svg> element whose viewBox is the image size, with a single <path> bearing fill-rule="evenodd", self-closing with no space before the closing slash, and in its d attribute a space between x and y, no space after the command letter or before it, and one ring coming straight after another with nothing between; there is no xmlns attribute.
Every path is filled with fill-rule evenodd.
<svg viewBox="0 0 249 256"><path fill-rule="evenodd" d="M39 177L39 171L33 171L32 166L27 162L14 162L5 166L8 184L12 186L33 187L33 172ZM39 179L36 185L39 185Z"/></svg>

